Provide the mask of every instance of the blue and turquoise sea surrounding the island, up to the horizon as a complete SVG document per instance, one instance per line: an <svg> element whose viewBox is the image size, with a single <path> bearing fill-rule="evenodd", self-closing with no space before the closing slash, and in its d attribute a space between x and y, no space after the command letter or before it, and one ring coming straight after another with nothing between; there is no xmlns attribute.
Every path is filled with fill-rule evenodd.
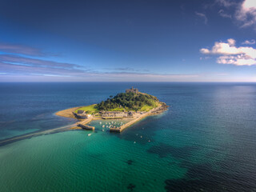
<svg viewBox="0 0 256 192"><path fill-rule="evenodd" d="M0 83L0 140L73 124L54 113L130 86L169 110L121 134L95 121L2 145L0 191L256 191L255 83Z"/></svg>

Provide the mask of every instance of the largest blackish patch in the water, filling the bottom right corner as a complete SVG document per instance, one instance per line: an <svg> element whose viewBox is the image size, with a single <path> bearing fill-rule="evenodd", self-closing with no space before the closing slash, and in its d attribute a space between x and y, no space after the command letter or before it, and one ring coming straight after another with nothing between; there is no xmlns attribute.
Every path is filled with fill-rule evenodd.
<svg viewBox="0 0 256 192"><path fill-rule="evenodd" d="M183 166L189 166L189 163L185 163ZM240 175L215 171L210 164L196 164L190 166L184 178L166 179L165 189L167 192L252 192L256 191L254 182L254 178L242 178Z"/></svg>

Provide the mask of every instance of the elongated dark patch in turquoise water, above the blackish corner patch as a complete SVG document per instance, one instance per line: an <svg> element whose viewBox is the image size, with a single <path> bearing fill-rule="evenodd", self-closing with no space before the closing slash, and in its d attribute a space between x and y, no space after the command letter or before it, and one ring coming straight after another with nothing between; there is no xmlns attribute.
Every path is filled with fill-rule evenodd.
<svg viewBox="0 0 256 192"><path fill-rule="evenodd" d="M150 154L158 154L160 158L165 158L168 154L171 154L174 158L188 158L196 149L197 147L195 146L176 147L161 143L158 146L151 146L147 152Z"/></svg>

